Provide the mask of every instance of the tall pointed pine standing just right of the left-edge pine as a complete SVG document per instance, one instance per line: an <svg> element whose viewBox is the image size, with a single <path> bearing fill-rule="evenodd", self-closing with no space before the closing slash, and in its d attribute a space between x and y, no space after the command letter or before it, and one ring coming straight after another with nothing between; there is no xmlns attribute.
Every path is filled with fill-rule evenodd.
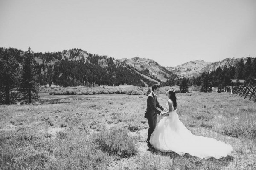
<svg viewBox="0 0 256 170"><path fill-rule="evenodd" d="M24 55L23 72L20 83L20 92L23 94L23 99L28 103L39 98L39 84L37 83L38 75L36 74L35 65L35 57L29 47Z"/></svg>

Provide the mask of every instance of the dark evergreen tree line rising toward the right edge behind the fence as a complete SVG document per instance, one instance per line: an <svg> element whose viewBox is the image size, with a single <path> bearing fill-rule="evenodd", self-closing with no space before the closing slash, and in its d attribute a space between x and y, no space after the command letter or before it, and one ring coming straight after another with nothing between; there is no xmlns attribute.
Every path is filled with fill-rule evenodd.
<svg viewBox="0 0 256 170"><path fill-rule="evenodd" d="M204 71L198 77L186 78L180 77L178 79L169 80L162 83L163 86L166 85L178 85L183 91L187 91L189 86L201 86L201 91L207 92L209 87L217 87L218 91L222 88L234 85L239 86L241 83L239 80L245 80L242 84L244 86L256 85L255 82L251 81L252 78L256 78L256 58L248 57L246 59L241 58L233 66L227 67L224 65L223 68L218 67L216 70L209 72ZM236 79L233 83L231 79Z"/></svg>

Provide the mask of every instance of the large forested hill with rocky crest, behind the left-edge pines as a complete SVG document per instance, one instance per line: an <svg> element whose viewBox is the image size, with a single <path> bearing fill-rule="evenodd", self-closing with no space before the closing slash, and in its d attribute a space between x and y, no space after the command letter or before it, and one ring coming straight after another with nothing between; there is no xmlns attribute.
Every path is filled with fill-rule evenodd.
<svg viewBox="0 0 256 170"><path fill-rule="evenodd" d="M0 48L2 54L14 54L15 59L23 65L25 51L14 48ZM99 86L99 85L134 85L151 86L160 83L155 79L138 73L131 65L113 57L90 54L81 49L62 52L33 52L36 63L33 70L40 85L60 86Z"/></svg>

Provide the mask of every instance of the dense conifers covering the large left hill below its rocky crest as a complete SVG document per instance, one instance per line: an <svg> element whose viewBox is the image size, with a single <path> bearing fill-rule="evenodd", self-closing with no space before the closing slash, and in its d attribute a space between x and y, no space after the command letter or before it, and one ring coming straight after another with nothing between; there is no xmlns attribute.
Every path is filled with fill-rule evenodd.
<svg viewBox="0 0 256 170"><path fill-rule="evenodd" d="M76 60L70 59L73 56L68 55L68 57L64 57L54 64L41 63L39 65L39 68L41 68L38 78L39 83L41 85L54 83L64 87L79 85L119 86L123 84L144 87L155 83L136 73L131 65L113 57L87 53L88 56L85 59L80 54L75 54ZM41 58L44 58L44 56L41 55Z"/></svg>

